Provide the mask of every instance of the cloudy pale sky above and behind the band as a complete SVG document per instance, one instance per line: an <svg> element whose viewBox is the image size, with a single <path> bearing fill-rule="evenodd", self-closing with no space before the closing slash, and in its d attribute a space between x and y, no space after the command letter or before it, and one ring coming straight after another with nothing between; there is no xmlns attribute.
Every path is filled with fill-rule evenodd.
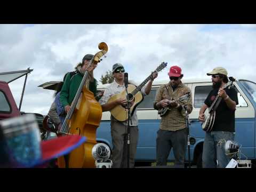
<svg viewBox="0 0 256 192"><path fill-rule="evenodd" d="M207 78L222 66L228 75L256 82L256 25L0 25L1 73L34 71L28 75L21 111L46 115L53 91L38 85L61 81L87 53L106 42L107 58L94 70L98 81L121 62L129 79L142 82L161 62L168 62L157 80L167 79L172 65L184 78ZM19 106L25 77L10 83Z"/></svg>

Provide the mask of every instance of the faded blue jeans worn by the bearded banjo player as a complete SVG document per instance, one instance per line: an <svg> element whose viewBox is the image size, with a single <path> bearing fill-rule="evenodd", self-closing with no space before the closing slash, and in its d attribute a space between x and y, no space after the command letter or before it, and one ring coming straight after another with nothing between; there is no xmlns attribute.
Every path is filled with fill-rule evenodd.
<svg viewBox="0 0 256 192"><path fill-rule="evenodd" d="M225 168L230 161L230 158L225 154L225 143L228 140L234 141L235 133L224 131L213 131L205 133L203 146L203 167Z"/></svg>

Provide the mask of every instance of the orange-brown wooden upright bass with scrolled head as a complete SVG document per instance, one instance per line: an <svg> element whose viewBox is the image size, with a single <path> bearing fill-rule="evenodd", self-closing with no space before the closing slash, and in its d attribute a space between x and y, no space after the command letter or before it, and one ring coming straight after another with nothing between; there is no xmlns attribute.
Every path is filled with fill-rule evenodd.
<svg viewBox="0 0 256 192"><path fill-rule="evenodd" d="M100 58L108 51L108 46L104 42L101 42L98 47L102 51L94 55L89 63L89 67L93 65L93 62L100 62L102 60ZM100 125L102 108L99 102L95 100L94 94L85 87L88 77L89 73L86 71L60 130L61 134L85 136L86 142L71 151L65 158L64 156L59 157L59 167L95 167L92 148L97 143L96 130Z"/></svg>

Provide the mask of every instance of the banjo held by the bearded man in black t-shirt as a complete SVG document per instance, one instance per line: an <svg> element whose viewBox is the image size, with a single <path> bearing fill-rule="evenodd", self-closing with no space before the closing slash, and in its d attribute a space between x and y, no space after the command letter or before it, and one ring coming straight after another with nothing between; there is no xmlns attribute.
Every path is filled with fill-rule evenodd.
<svg viewBox="0 0 256 192"><path fill-rule="evenodd" d="M230 86L233 85L233 82L236 81L235 78L233 77L229 77L229 82L224 85L222 87L222 89L225 89L225 88L229 88L230 89ZM215 121L215 111L216 109L218 108L220 102L221 102L222 98L217 95L217 97L215 97L211 107L207 108L205 111L204 111L204 115L205 115L205 121L202 123L202 129L205 131L205 132L211 132L212 131L212 127L213 127L213 124L214 124L214 121Z"/></svg>

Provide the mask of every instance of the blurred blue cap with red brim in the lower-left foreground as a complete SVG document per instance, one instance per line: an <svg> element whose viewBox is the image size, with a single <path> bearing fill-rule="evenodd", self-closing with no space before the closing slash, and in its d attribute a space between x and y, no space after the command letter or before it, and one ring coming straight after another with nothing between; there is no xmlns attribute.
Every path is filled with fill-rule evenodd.
<svg viewBox="0 0 256 192"><path fill-rule="evenodd" d="M0 167L37 167L66 155L86 141L79 135L68 135L41 141L34 114L0 122Z"/></svg>

